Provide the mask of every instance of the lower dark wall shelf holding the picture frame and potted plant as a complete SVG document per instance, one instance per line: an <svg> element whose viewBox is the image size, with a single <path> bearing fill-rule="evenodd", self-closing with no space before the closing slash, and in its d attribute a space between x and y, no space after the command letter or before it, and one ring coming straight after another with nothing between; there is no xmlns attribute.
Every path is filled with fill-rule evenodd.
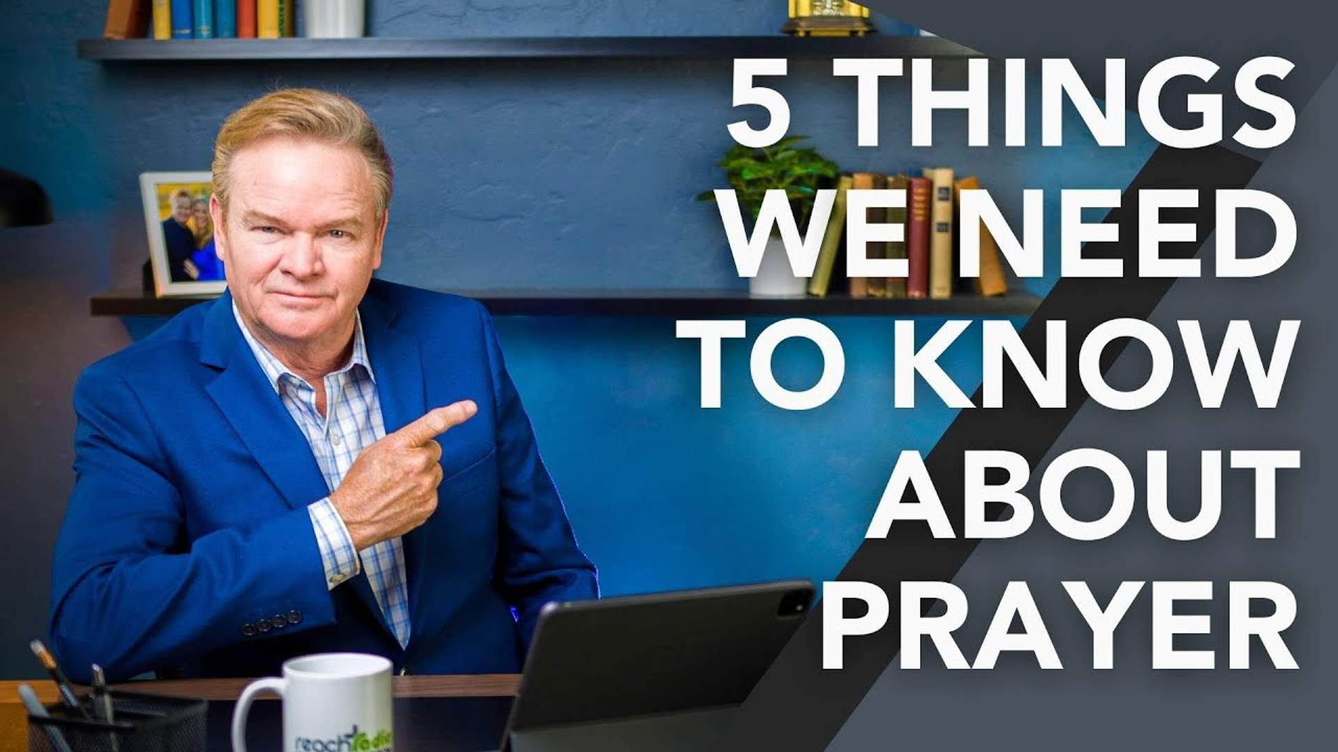
<svg viewBox="0 0 1338 752"><path fill-rule="evenodd" d="M1029 316L1041 300L1022 293L947 300L748 297L747 290L447 290L494 316ZM174 316L207 297L112 290L90 298L94 316Z"/></svg>

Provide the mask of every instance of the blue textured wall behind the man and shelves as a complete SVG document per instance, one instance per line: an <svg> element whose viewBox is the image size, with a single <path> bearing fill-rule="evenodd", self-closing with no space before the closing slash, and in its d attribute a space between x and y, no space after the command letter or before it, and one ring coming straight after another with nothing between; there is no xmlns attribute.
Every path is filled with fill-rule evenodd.
<svg viewBox="0 0 1338 752"><path fill-rule="evenodd" d="M383 36L756 35L785 17L779 0L633 3L373 0ZM0 314L11 396L0 403L7 500L23 518L9 550L31 571L5 595L29 603L5 645L43 629L45 565L71 476L70 385L123 347L119 322L83 298L134 286L145 257L136 175L207 169L223 116L276 86L334 88L360 100L396 161L383 276L440 288L727 288L736 278L720 219L692 195L721 185L731 140L729 60L290 62L99 64L74 56L98 36L100 1L11 0L0 8L0 166L43 182L58 225L0 231ZM875 19L884 29L890 19ZM1017 217L1022 187L1124 187L1151 153L967 149L965 118L941 115L941 147L911 150L906 84L882 98L884 145L858 149L851 79L792 60L776 82L792 132L844 170L949 165L981 175ZM1001 99L995 99L1001 102ZM1038 107L1033 112L1038 111ZM998 120L998 118L994 118ZM1036 132L1033 127L1033 134ZM1081 128L1072 119L1066 132ZM995 130L1001 142L1001 131ZM1139 139L1143 140L1139 140ZM1033 140L1034 136L1033 136ZM1053 264L1050 265L1053 266ZM1044 294L1054 280L1028 282ZM749 340L769 320L749 320ZM918 321L925 337L939 320ZM511 317L499 321L512 375L577 533L609 594L780 577L834 575L868 523L892 460L929 450L953 411L891 409L891 332L882 318L828 320L847 353L842 392L792 413L753 391L747 345L728 343L724 407L697 405L697 348L668 318ZM151 322L140 322L143 329ZM978 329L945 360L970 392ZM777 352L783 384L816 379L816 349ZM32 427L15 442L16 426ZM7 602L13 602L5 598ZM15 630L11 634L9 630ZM15 673L9 661L0 672ZM17 673L31 673L20 665Z"/></svg>

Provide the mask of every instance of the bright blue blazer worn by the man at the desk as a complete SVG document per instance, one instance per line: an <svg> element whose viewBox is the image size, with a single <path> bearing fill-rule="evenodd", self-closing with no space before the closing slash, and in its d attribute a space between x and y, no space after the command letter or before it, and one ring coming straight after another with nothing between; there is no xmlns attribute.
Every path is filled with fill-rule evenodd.
<svg viewBox="0 0 1338 752"><path fill-rule="evenodd" d="M51 641L72 678L262 676L305 653L409 673L519 670L539 609L598 597L478 302L373 280L360 305L385 431L472 399L438 440L436 512L404 535L400 649L367 575L326 589L306 506L329 490L231 297L90 365L56 541Z"/></svg>

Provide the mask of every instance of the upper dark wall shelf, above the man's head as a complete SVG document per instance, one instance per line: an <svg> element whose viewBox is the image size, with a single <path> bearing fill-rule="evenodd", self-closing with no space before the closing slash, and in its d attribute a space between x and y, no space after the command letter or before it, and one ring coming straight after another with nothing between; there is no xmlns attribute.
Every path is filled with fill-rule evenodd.
<svg viewBox="0 0 1338 752"><path fill-rule="evenodd" d="M356 60L483 58L979 58L938 36L530 36L404 39L80 39L88 60Z"/></svg>

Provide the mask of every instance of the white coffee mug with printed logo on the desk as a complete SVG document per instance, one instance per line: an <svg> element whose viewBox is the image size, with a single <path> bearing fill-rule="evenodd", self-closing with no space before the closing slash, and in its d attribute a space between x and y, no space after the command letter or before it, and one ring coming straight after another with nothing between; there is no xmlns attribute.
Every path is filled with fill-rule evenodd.
<svg viewBox="0 0 1338 752"><path fill-rule="evenodd" d="M320 653L284 661L284 678L246 685L233 711L233 749L246 752L246 713L261 692L284 698L284 749L387 752L393 748L391 661Z"/></svg>

